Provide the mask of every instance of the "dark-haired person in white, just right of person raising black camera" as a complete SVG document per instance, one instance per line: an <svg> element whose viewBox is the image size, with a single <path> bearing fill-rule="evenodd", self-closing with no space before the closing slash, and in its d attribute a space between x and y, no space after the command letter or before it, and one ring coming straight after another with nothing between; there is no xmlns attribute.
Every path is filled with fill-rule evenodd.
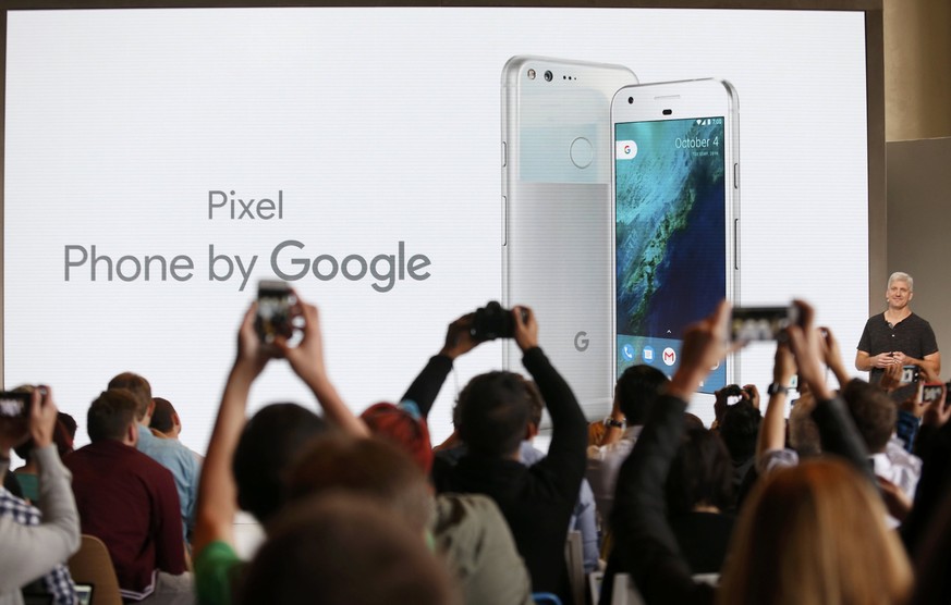
<svg viewBox="0 0 951 605"><path fill-rule="evenodd" d="M601 446L588 447L585 477L592 484L601 519L610 519L618 471L637 442L647 411L667 376L650 366L631 366L614 385L611 416L605 419Z"/></svg>

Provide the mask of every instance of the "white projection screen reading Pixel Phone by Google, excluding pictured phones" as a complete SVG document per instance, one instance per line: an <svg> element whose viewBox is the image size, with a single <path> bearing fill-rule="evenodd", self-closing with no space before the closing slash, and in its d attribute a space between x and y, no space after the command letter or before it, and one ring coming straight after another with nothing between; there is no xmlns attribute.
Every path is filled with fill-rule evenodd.
<svg viewBox="0 0 951 605"><path fill-rule="evenodd" d="M8 2L3 384L51 385L82 445L89 403L138 372L204 452L242 314L283 275L320 308L348 405L398 399L446 325L501 295L500 78L516 54L729 79L741 302L814 302L851 361L883 266L880 3L636 4ZM771 362L769 345L744 351L741 383L768 384ZM434 441L458 390L500 363L498 342L456 361ZM249 410L275 400L313 405L280 361ZM692 410L709 421L711 399Z"/></svg>

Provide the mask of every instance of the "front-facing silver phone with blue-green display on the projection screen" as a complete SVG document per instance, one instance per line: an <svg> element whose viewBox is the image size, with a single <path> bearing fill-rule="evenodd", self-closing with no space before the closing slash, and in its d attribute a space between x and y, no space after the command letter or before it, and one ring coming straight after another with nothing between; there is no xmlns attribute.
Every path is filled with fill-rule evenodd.
<svg viewBox="0 0 951 605"><path fill-rule="evenodd" d="M673 375L686 326L740 300L736 90L695 79L625 87L613 131L614 371ZM736 382L727 359L702 385Z"/></svg>

